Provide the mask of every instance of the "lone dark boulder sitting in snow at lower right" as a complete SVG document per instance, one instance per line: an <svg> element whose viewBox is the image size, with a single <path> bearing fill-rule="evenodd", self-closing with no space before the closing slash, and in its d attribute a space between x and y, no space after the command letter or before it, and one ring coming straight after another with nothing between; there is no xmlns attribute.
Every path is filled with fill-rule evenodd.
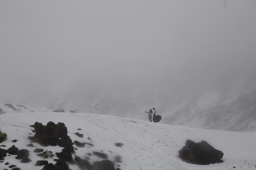
<svg viewBox="0 0 256 170"><path fill-rule="evenodd" d="M208 165L223 162L220 160L224 153L215 149L206 141L198 143L187 140L185 146L179 151L179 157L188 163Z"/></svg>

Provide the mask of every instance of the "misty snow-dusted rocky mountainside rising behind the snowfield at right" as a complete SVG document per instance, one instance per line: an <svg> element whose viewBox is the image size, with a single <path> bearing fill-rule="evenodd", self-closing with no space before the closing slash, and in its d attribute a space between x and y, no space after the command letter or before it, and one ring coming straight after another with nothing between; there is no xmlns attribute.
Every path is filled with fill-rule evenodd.
<svg viewBox="0 0 256 170"><path fill-rule="evenodd" d="M256 130L256 91L244 94L228 104L216 103L204 109L188 104L164 122L205 129Z"/></svg>

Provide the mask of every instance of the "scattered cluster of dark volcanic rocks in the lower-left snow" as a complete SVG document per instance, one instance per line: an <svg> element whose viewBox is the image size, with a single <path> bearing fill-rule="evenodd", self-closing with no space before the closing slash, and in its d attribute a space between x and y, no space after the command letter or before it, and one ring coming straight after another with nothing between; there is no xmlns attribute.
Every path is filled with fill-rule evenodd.
<svg viewBox="0 0 256 170"><path fill-rule="evenodd" d="M120 168L115 168L114 162L121 163L121 157L116 157L115 161L108 160L108 155L102 152L92 152L87 153L87 156L84 156L84 158L77 157L75 155L77 148L74 148L74 144L80 148L85 147L86 145L88 147L93 147L94 145L92 143L87 142L79 142L79 141L73 141L68 136L68 130L64 123L58 123L55 124L53 122L48 122L47 125L43 125L42 123L35 122L34 125L31 125L35 130L32 130L35 132L35 135L33 137L29 137L30 142L38 143L42 146L57 146L63 147L61 152L52 153L48 150L43 150L36 148L34 150L36 155L39 157L42 157L43 159L47 159L49 157L56 157L58 159L54 159L56 162L55 164L49 163L47 160L37 160L36 166L43 166L42 170L69 170L69 164L71 165L77 165L81 169L88 169L88 170L121 170ZM81 130L81 129L77 129ZM75 133L78 137L83 138L84 135L80 134L79 132ZM91 138L88 137L88 140L91 141ZM17 142L18 140L13 140L12 142ZM32 143L26 145L28 147L34 147ZM118 147L122 147L123 144L116 144ZM0 163L1 160L4 160L4 157L6 157L7 154L10 155L17 155L16 159L19 159L22 163L28 163L31 162L29 159L29 151L27 149L21 149L19 150L15 145L10 147L8 150L1 149L0 148ZM101 159L104 159L102 161L96 161L94 163L90 163L88 160L90 160L90 157L94 155ZM5 163L5 165L9 165L8 162ZM117 165L120 167L119 165ZM12 170L20 170L20 168L16 167L16 165L10 165L9 168L12 168Z"/></svg>

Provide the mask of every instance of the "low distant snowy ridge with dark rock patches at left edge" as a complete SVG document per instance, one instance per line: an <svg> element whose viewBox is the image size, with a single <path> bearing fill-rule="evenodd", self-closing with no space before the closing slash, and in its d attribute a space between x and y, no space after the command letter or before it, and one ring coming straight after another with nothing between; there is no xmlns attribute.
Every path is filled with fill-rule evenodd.
<svg viewBox="0 0 256 170"><path fill-rule="evenodd" d="M74 111L66 111L63 109L53 108L53 107L35 107L35 106L28 106L28 105L9 104L9 103L0 104L0 114L25 113L25 112L71 112L71 113L74 113Z"/></svg>

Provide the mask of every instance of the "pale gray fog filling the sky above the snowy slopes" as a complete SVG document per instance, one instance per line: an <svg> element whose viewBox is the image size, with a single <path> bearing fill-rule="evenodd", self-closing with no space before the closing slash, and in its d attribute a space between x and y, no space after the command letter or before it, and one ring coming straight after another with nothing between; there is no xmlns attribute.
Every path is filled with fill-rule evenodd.
<svg viewBox="0 0 256 170"><path fill-rule="evenodd" d="M0 1L0 102L163 111L256 90L255 16L254 0Z"/></svg>

